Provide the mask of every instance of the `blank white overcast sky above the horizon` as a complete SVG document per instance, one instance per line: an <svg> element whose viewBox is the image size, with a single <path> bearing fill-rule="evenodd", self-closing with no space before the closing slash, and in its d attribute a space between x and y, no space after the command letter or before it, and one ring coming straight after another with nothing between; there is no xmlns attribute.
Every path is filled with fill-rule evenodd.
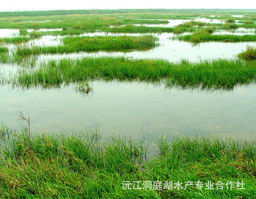
<svg viewBox="0 0 256 199"><path fill-rule="evenodd" d="M71 10L71 9L122 9L122 8L219 8L256 9L255 0L1 0L0 11L17 10Z"/></svg>

